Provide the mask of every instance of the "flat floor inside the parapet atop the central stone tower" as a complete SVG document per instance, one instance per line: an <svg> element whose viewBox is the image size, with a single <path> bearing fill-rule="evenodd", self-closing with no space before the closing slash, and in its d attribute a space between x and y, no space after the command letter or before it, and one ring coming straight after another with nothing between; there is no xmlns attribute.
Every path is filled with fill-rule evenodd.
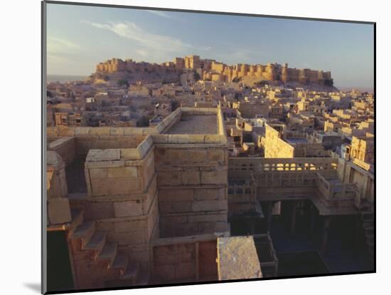
<svg viewBox="0 0 391 295"><path fill-rule="evenodd" d="M218 118L215 114L183 113L167 134L218 134Z"/></svg>

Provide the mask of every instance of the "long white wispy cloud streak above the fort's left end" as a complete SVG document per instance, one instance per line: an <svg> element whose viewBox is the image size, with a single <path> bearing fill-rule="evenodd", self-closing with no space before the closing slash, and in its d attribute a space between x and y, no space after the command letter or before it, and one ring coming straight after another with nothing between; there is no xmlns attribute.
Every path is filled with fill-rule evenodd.
<svg viewBox="0 0 391 295"><path fill-rule="evenodd" d="M141 27L129 21L117 23L112 22L109 24L99 24L90 21L82 21L82 23L90 24L90 26L94 26L97 29L112 31L118 36L130 39L141 46L155 50L181 52L188 48L193 48L191 44L185 43L178 38L149 33L148 31L141 29Z"/></svg>

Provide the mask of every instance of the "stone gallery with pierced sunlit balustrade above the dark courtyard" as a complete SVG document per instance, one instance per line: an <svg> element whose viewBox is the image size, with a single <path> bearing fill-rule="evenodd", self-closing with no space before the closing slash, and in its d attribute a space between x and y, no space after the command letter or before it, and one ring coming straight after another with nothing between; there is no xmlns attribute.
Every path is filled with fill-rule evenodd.
<svg viewBox="0 0 391 295"><path fill-rule="evenodd" d="M350 207L357 187L338 180L337 168L338 158L230 158L228 179L239 182L254 177L260 200L310 194L318 195L327 207Z"/></svg>

